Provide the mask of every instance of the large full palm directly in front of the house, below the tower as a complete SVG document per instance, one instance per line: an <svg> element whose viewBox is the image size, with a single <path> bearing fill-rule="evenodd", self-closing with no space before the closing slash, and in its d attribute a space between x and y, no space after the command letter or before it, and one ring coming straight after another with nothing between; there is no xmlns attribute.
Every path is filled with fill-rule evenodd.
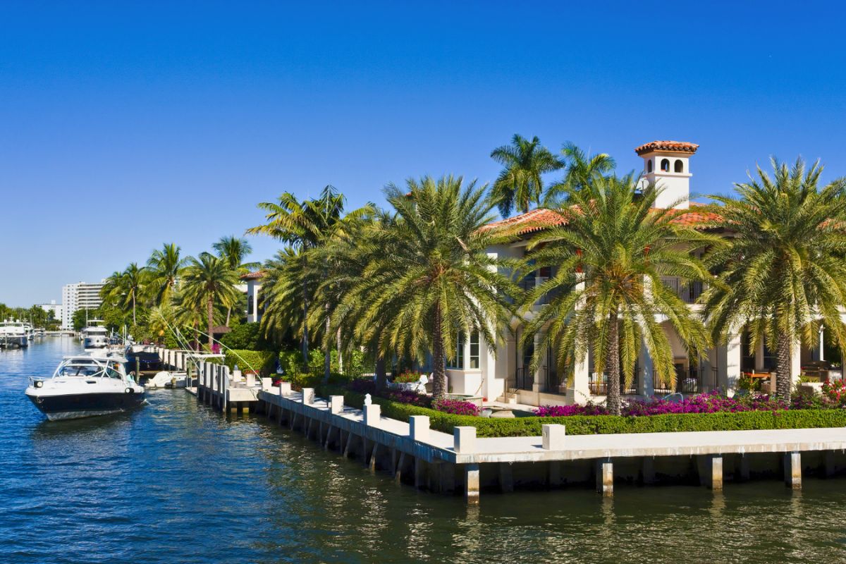
<svg viewBox="0 0 846 564"><path fill-rule="evenodd" d="M654 210L660 189L636 197L636 181L597 176L569 191L558 208L565 224L548 228L529 244L525 267L551 266L552 276L527 294L524 309L547 294L549 304L525 326L535 336L533 365L552 347L558 366L573 370L593 352L595 370L607 372L607 407L620 413L620 371L630 382L645 342L656 375L673 383L673 351L659 318L673 325L692 355L706 350L705 326L661 277L709 277L691 251L719 244L714 236L675 222L684 210Z"/></svg>

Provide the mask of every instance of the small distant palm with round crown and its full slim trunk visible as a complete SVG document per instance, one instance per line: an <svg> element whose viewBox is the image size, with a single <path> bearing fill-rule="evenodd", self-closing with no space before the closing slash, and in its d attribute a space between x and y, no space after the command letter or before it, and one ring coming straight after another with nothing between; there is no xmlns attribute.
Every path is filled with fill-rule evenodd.
<svg viewBox="0 0 846 564"><path fill-rule="evenodd" d="M223 307L231 307L238 299L235 284L238 277L226 262L210 253L201 253L198 259L191 257L183 274L182 293L192 303L200 301L206 304L208 320L209 348L214 342L214 306L219 302Z"/></svg>

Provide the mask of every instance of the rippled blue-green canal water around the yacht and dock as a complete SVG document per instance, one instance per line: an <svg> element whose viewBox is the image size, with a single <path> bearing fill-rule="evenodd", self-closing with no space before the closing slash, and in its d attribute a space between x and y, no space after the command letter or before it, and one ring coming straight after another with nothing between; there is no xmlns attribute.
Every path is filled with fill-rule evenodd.
<svg viewBox="0 0 846 564"><path fill-rule="evenodd" d="M846 479L417 493L184 391L47 422L24 397L78 344L0 352L0 562L843 562Z"/></svg>

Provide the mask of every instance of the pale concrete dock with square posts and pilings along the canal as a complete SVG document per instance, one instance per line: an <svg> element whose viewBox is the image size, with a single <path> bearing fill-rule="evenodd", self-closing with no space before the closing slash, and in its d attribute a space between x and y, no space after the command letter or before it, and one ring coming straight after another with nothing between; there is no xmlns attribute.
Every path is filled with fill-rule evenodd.
<svg viewBox="0 0 846 564"><path fill-rule="evenodd" d="M173 353L180 352L162 359L174 367L186 362ZM271 386L269 378L239 379L221 364L200 363L197 372L202 402L263 413L373 472L433 492L460 492L468 503L478 503L483 490L515 487L591 485L613 496L615 484L722 490L727 481L780 479L799 489L803 476L831 478L846 470L846 428L567 435L565 425L547 424L541 436L476 437L475 427L456 427L451 435L431 429L426 416L389 419L377 404L351 408L342 396L294 392L286 382Z"/></svg>

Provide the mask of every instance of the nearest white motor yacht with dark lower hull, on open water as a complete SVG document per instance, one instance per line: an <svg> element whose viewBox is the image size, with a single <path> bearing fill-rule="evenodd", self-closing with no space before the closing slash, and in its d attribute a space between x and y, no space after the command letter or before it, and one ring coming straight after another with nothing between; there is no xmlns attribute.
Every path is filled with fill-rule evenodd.
<svg viewBox="0 0 846 564"><path fill-rule="evenodd" d="M51 421L118 413L144 402L144 388L127 375L126 359L114 354L65 357L51 378L30 378L25 393Z"/></svg>

